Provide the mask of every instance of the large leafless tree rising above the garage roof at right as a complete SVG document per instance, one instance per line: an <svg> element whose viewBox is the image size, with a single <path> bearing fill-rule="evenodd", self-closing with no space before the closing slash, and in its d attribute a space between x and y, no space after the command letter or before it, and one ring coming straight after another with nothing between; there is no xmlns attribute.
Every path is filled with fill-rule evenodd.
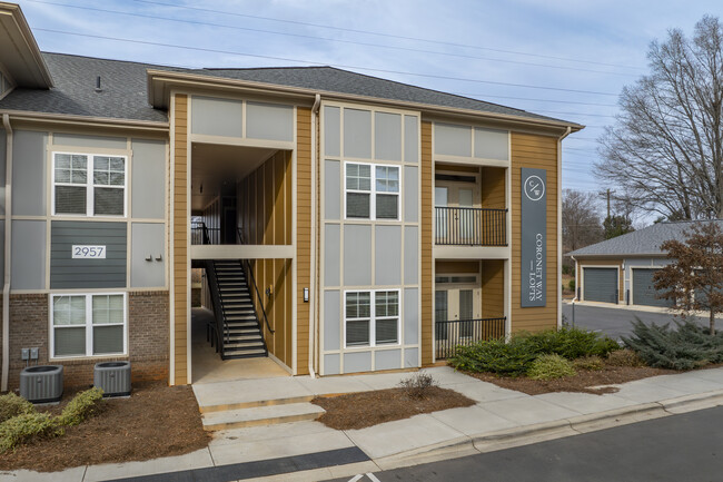
<svg viewBox="0 0 723 482"><path fill-rule="evenodd" d="M647 53L651 73L625 87L600 139L595 174L638 208L668 218L723 217L723 26L704 17L692 39L671 30Z"/></svg>

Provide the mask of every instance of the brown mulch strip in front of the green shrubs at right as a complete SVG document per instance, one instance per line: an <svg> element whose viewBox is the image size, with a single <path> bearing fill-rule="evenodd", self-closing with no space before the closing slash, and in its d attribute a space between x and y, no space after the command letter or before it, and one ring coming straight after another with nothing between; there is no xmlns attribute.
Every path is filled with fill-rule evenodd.
<svg viewBox="0 0 723 482"><path fill-rule="evenodd" d="M679 372L674 370L651 368L647 366L605 365L600 371L578 370L575 376L557 380L532 380L526 376L497 376L493 373L464 373L484 382L494 383L503 388L515 390L528 395L539 395L551 392L582 392L602 395L604 393L615 393L618 388L614 386L594 388L595 386L614 385L647 378L648 376L670 375Z"/></svg>

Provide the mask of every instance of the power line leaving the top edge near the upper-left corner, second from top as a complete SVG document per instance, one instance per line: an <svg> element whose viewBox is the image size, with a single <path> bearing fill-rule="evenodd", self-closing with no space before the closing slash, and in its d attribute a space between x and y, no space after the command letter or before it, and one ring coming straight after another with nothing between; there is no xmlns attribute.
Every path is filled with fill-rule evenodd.
<svg viewBox="0 0 723 482"><path fill-rule="evenodd" d="M100 8L95 8L95 7L82 7L82 6L75 6L75 4L68 4L68 3L56 3L56 2L49 2L49 1L43 1L43 0L26 0L26 1L32 2L32 3L42 3L42 4L49 4L49 6L56 6L56 7L65 7L65 8L72 8L72 9L78 9L78 10L87 10L87 11L95 11L95 12L102 12L102 13L129 16L129 17L137 17L137 18L151 19L151 20L162 20L162 21L188 23L188 24L195 24L195 26L217 27L217 28L225 28L225 29L230 29L230 30L241 30L241 31L256 32L256 33L269 33L269 35L274 35L274 36L296 37L296 38L303 38L303 39L321 40L321 41L338 42L338 43L349 43L349 45L357 45L357 46L364 46L364 47L375 47L375 48L389 49L389 50L400 50L400 51L407 51L407 52L432 53L432 55L437 55L437 56L457 57L457 58L473 59L473 60L486 60L486 61L492 61L492 62L514 63L514 65L542 67L542 68L549 68L549 69L576 70L576 71L581 71L581 72L593 72L593 73L605 73L605 75L612 75L612 76L636 77L635 73L610 72L610 71L604 71L604 70L583 69L583 68L577 68L577 67L552 66L552 65L547 65L547 63L525 62L525 61L521 61L521 60L495 59L495 58L489 58L489 57L468 56L468 55L464 55L464 53L440 52L440 51L435 51L435 50L414 49L414 48L409 48L409 47L398 47L398 46L389 46L389 45L382 45L382 43L359 42L359 41L354 41L354 40L334 39L334 38L328 38L328 37L317 37L317 36L308 36L308 35L291 33L291 32L279 32L279 31L274 31L274 30L263 30L263 29L255 29L255 28L249 28L249 27L228 26L228 24L222 24L222 23L210 23L210 22L204 22L204 21L199 21L199 20L182 20L182 19L174 19L174 18L168 18L168 17L151 16L151 14L146 14L146 13L125 12L125 11L120 11L120 10L108 10L108 9L100 9Z"/></svg>

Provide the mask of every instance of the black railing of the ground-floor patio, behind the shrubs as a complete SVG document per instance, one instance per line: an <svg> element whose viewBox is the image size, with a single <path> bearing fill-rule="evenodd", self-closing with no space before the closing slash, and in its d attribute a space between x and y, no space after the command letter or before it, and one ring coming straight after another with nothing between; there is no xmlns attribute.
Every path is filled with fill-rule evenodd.
<svg viewBox="0 0 723 482"><path fill-rule="evenodd" d="M505 321L501 318L450 319L435 322L437 360L454 356L459 345L471 345L483 340L505 336Z"/></svg>

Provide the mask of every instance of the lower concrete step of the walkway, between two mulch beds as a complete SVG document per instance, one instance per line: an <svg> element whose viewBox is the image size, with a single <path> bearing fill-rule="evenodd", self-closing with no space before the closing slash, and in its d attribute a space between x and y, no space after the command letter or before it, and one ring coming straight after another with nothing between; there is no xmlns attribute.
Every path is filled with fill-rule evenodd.
<svg viewBox="0 0 723 482"><path fill-rule="evenodd" d="M325 410L311 403L284 403L247 409L204 412L204 430L218 431L246 426L316 420Z"/></svg>

